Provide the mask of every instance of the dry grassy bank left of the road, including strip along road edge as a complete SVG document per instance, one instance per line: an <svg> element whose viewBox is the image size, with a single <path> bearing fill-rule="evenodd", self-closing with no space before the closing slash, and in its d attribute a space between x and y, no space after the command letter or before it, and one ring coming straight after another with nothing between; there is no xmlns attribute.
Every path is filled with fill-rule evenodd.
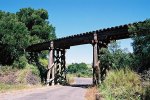
<svg viewBox="0 0 150 100"><path fill-rule="evenodd" d="M38 69L29 64L24 69L2 66L0 68L0 79L0 92L36 87L40 83ZM29 82L37 84L31 85Z"/></svg>

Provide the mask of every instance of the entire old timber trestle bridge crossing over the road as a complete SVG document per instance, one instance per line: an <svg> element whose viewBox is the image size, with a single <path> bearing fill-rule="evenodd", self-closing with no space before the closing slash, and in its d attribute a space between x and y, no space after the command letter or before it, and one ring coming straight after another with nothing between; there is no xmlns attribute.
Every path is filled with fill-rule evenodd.
<svg viewBox="0 0 150 100"><path fill-rule="evenodd" d="M143 23L143 22L138 22ZM125 24L121 26L111 27L107 29L100 29L92 32L86 32L64 38L51 40L44 43L33 44L26 48L27 52L40 52L49 50L49 63L47 72L47 85L54 85L66 80L66 60L65 52L71 46L92 44L93 46L93 84L98 85L104 75L100 66L99 51L102 47L107 48L107 45L112 40L130 38L128 31L133 24Z"/></svg>

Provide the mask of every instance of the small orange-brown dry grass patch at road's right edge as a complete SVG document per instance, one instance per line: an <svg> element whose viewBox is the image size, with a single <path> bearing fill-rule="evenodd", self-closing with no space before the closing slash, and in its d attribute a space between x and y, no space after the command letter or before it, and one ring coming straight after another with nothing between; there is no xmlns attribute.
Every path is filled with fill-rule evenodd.
<svg viewBox="0 0 150 100"><path fill-rule="evenodd" d="M85 98L86 100L96 100L96 94L98 93L97 87L90 87L87 89ZM100 96L99 100L103 100L102 97Z"/></svg>

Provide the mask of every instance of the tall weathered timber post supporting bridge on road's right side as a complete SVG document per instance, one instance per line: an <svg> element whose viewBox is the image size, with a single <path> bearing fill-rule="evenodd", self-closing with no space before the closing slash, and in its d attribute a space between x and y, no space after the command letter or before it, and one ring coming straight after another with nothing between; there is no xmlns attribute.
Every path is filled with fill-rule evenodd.
<svg viewBox="0 0 150 100"><path fill-rule="evenodd" d="M99 66L99 46L98 46L98 38L97 34L94 34L93 40L93 84L100 84L100 66Z"/></svg>

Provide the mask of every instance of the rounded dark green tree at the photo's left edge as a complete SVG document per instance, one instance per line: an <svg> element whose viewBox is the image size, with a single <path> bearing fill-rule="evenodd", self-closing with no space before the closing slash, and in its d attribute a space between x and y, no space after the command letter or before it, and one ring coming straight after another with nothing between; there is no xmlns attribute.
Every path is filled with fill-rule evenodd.
<svg viewBox="0 0 150 100"><path fill-rule="evenodd" d="M24 53L30 34L15 14L0 13L0 63L9 65Z"/></svg>

